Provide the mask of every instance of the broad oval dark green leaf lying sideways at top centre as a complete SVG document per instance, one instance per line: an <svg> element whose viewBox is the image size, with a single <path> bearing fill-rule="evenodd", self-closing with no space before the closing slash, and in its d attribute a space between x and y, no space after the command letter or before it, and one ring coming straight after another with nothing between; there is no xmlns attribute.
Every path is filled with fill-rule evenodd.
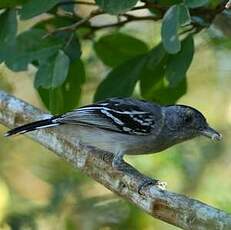
<svg viewBox="0 0 231 230"><path fill-rule="evenodd" d="M148 47L143 41L122 33L101 37L95 42L94 49L103 63L110 67L118 66L148 51Z"/></svg>

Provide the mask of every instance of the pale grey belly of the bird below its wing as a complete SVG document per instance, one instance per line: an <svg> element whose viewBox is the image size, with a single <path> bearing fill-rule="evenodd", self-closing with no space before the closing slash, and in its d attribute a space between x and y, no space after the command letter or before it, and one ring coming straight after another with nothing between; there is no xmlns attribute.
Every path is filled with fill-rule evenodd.
<svg viewBox="0 0 231 230"><path fill-rule="evenodd" d="M125 154L136 155L158 151L158 143L155 143L153 137L151 139L148 136L121 134L94 127L83 128L79 125L62 125L57 129L71 142L93 146L111 153L123 151Z"/></svg>

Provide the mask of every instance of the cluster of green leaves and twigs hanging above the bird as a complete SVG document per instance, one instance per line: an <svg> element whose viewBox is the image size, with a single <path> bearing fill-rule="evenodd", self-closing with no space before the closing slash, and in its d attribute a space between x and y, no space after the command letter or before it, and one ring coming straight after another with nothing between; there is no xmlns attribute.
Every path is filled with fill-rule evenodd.
<svg viewBox="0 0 231 230"><path fill-rule="evenodd" d="M98 58L110 68L96 89L95 100L131 96L139 83L143 98L174 103L187 91L194 35L212 22L224 3L143 0L136 6L137 2L3 0L0 2L0 63L4 62L15 72L35 66L34 87L43 103L52 113L62 113L77 106L80 100L87 68L81 61L80 42L90 39ZM80 4L95 9L89 8L89 15L81 17L75 8ZM142 9L152 13L148 16L132 13ZM49 17L44 17L44 13ZM112 24L92 24L90 19L101 14L112 14L119 19ZM18 16L20 21L40 18L31 28L19 33ZM93 35L101 29L120 28L140 20L162 22L160 44L150 49L144 41L119 30L107 30L98 40L94 39Z"/></svg>

